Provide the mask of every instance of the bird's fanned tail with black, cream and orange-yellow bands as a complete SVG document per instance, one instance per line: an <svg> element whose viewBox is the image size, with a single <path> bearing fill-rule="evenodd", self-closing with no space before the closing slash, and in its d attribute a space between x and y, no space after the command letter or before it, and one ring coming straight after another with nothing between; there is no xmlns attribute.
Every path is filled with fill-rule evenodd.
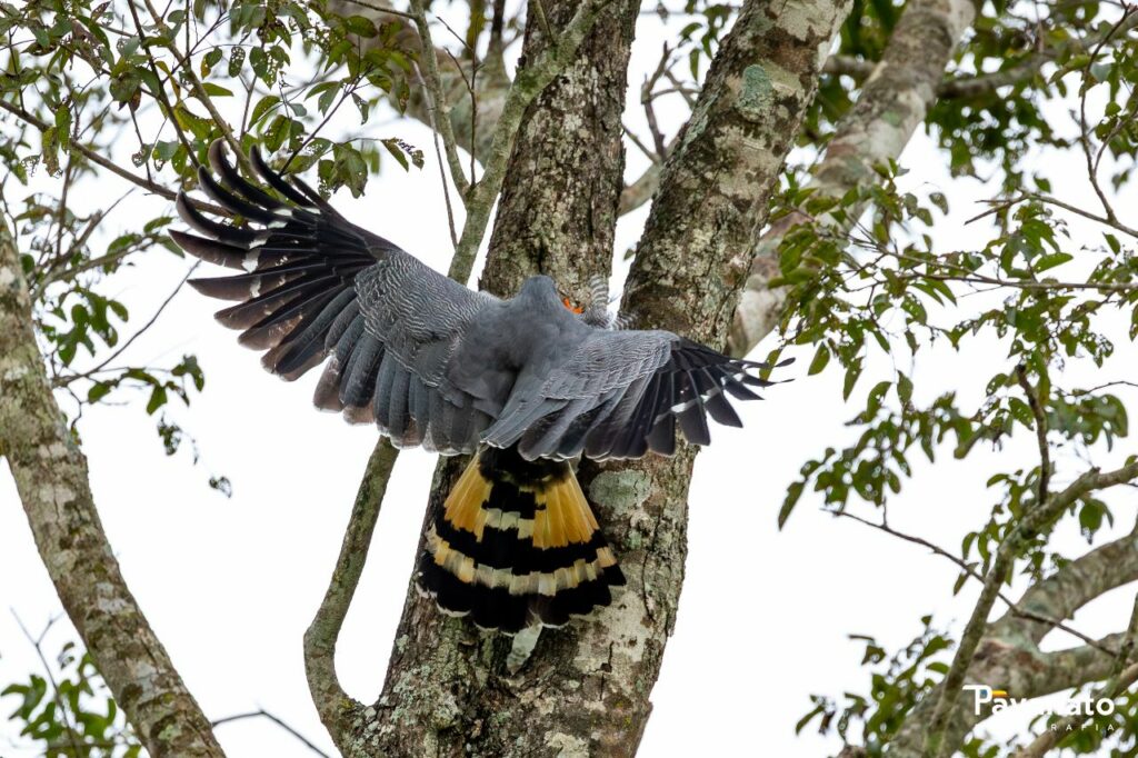
<svg viewBox="0 0 1138 758"><path fill-rule="evenodd" d="M568 462L489 447L436 514L419 583L443 611L512 634L608 605L625 577Z"/></svg>

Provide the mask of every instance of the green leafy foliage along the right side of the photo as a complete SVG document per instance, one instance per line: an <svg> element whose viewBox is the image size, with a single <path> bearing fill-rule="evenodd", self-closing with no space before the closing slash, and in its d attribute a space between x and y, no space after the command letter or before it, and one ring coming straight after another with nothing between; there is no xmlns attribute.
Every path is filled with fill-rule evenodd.
<svg viewBox="0 0 1138 758"><path fill-rule="evenodd" d="M942 451L967 460L979 451L1038 448L1037 465L1013 463L991 475L987 522L968 533L958 551L942 549L962 565L954 593L973 576L988 574L1025 513L1081 473L1086 461L1128 437L1125 393L1135 385L1125 372L1103 370L1120 340L1132 344L1138 337L1138 232L1110 203L1110 191L1125 184L1138 156L1131 133L1136 102L1132 90L1119 84L1135 75L1138 46L1132 33L1116 34L1132 23L1132 11L1100 15L1097 3L1063 7L1031 30L1026 44L1023 19L1007 9L992 10L998 18L980 19L962 59L970 57L976 71L1011 74L1007 83L962 90L968 97L942 97L929 118L955 173L999 178L999 195L973 220L990 224L987 242L955 247L953 231L938 221L949 211L946 198L931 189L899 189L905 172L896 164L877 168L876 184L841 198L811 195L792 173L776 204L778 214L797 209L814 220L793 226L778 249L780 275L772 286L790 294L785 339L810 346L809 373L841 370L847 401L864 403L848 423L852 442L827 447L803 464L780 524L814 492L839 514L867 506L880 511L885 528L884 509L914 476L915 455L933 462ZM1044 57L1041 48L1049 50ZM1055 98L1075 106L1070 114L1055 109L1055 116L1042 105ZM1059 137L1072 133L1085 137ZM1083 159L1092 203L1077 207L1056 197L1047 171L1033 159L1041 149L1074 151ZM1107 172L1108 189L1100 186ZM866 207L873 213L864 220ZM1094 223L1097 231L1090 237L1072 231L1071 217ZM986 355L983 345L993 340L1003 359L982 369L970 356ZM979 401L953 386L951 378L900 368L920 365L917 356L935 346L954 351L971 372L987 371ZM867 380L866 366L882 363L871 360L874 354L894 369ZM1066 370L1074 365L1100 371L1092 384L1080 384ZM867 381L874 384L861 386ZM1055 529L1069 520L1092 543L1114 514L1095 492L1078 497L1019 543L1019 574L1040 579L1069 561L1050 546ZM1011 583L1014 576L1000 578ZM840 709L816 697L800 727L817 718L824 732L859 738L869 755L880 755L896 733L891 715L915 708L947 670L930 666L929 677L912 686L913 669L897 668L910 651L894 653L889 669L874 669L868 694L848 693ZM865 662L879 664L885 654ZM887 703L883 693L899 701ZM1135 717L1133 710L1120 711L1115 720ZM1125 730L1086 728L1062 744L1105 755L1124 750L1129 740ZM968 756L1000 751L979 735L964 749Z"/></svg>

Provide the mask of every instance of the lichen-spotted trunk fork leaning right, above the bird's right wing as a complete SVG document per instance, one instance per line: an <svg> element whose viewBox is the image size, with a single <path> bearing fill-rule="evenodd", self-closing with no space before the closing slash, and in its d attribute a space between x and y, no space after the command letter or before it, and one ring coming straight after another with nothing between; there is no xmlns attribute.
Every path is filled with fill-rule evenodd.
<svg viewBox="0 0 1138 758"><path fill-rule="evenodd" d="M743 6L663 167L625 293L640 323L726 341L770 189L847 11Z"/></svg>

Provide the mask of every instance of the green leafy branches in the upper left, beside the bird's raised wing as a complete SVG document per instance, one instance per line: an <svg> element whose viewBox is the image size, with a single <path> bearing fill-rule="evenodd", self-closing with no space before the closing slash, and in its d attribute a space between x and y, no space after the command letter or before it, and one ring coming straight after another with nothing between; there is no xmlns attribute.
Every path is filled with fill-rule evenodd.
<svg viewBox="0 0 1138 758"><path fill-rule="evenodd" d="M421 150L399 137L351 129L366 127L378 104L402 109L410 98L414 55L402 20L341 14L290 1L0 3L0 165L14 180L0 197L73 420L86 405L141 395L174 454L188 437L167 406L188 405L205 385L193 355L131 360L130 346L165 304L140 323L116 294L117 274L160 253L181 256L166 236L172 208L145 201L140 188L171 197L191 187L216 139L242 151L259 146L286 172L316 167L328 193L360 196L385 156L404 170L422 166ZM112 181L112 193L93 192L107 183L99 158L124 143L130 160L118 174L135 187ZM28 190L22 199L19 186ZM211 481L230 489L224 477Z"/></svg>

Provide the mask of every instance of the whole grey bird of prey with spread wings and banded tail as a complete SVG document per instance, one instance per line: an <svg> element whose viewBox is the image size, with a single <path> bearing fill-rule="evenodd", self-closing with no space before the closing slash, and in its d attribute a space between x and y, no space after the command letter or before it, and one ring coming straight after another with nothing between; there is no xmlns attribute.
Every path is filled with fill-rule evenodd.
<svg viewBox="0 0 1138 758"><path fill-rule="evenodd" d="M567 307L549 277L511 298L473 291L351 223L297 178L249 155L264 186L215 142L200 189L242 220L207 219L184 195L187 253L234 269L196 279L242 345L292 380L327 360L320 409L373 422L398 447L475 454L434 519L418 583L447 613L512 634L611 602L625 579L571 460L670 455L708 417L741 426L728 396L769 381L669 331L611 328ZM603 304L602 304L603 305Z"/></svg>

